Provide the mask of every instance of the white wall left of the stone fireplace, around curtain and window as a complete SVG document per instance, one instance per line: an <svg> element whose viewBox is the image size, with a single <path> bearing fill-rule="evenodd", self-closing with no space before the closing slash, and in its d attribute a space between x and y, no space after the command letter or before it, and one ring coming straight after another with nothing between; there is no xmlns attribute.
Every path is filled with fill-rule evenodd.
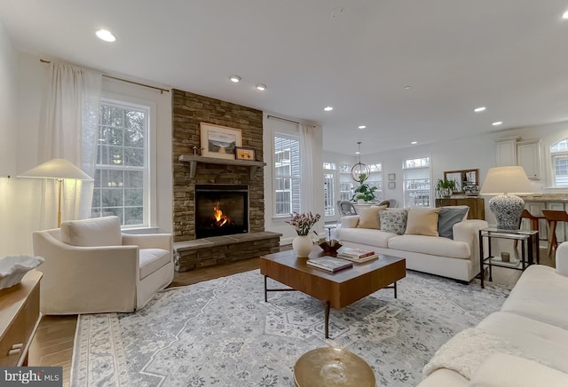
<svg viewBox="0 0 568 387"><path fill-rule="evenodd" d="M4 28L0 28L0 44L0 80L3 85L0 89L0 133L3 147L8 144L6 152L0 153L0 257L4 257L32 254L31 233L39 228L34 221L37 218L34 214L41 210L39 181L13 176L42 162L37 158L37 138L49 67L40 63L39 57L14 51ZM108 78L103 78L103 92L130 97L155 107L156 154L152 179L157 205L152 226L171 233L170 92L161 94L160 91ZM12 178L4 178L8 174Z"/></svg>

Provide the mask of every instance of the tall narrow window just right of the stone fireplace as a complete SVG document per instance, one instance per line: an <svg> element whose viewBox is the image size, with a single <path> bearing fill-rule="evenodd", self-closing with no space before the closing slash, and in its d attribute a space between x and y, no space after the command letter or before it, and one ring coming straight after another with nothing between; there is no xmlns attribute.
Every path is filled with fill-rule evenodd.
<svg viewBox="0 0 568 387"><path fill-rule="evenodd" d="M274 136L274 214L288 217L300 208L300 143L297 138Z"/></svg>

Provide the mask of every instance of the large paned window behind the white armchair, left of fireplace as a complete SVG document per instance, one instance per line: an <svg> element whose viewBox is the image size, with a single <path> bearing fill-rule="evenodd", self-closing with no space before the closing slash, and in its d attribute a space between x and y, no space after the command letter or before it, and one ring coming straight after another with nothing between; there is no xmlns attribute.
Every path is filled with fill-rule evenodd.
<svg viewBox="0 0 568 387"><path fill-rule="evenodd" d="M149 225L149 107L101 100L91 217Z"/></svg>

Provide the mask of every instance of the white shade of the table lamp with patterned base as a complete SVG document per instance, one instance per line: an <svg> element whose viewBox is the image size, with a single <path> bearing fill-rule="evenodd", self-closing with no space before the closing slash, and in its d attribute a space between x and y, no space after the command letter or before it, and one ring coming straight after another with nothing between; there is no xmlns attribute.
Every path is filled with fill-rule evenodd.
<svg viewBox="0 0 568 387"><path fill-rule="evenodd" d="M533 187L523 167L496 167L487 171L480 194L533 194Z"/></svg>

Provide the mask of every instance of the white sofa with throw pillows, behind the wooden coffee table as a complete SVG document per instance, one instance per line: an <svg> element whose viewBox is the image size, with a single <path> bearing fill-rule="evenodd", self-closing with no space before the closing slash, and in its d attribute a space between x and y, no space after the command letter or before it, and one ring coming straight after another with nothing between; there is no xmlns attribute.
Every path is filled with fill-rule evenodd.
<svg viewBox="0 0 568 387"><path fill-rule="evenodd" d="M466 217L467 212L460 222L454 224L454 239L406 233L398 235L380 229L361 228L358 226L359 215L342 217L336 235L344 246L406 258L407 269L469 281L480 272L479 230L488 225L485 220L468 220Z"/></svg>

